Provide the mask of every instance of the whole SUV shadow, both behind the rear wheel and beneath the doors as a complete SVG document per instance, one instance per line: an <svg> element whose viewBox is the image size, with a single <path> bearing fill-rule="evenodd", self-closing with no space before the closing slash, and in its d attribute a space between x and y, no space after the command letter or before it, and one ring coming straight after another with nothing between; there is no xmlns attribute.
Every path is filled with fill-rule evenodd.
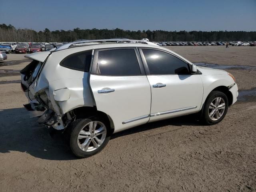
<svg viewBox="0 0 256 192"><path fill-rule="evenodd" d="M38 124L36 118L29 118L24 108L0 110L0 122L0 153L25 152L36 158L47 160L77 159L72 154L68 140L65 139L62 131L50 136L49 130L44 125ZM172 118L124 130L113 134L111 139L168 125L197 126L200 124L192 116Z"/></svg>

